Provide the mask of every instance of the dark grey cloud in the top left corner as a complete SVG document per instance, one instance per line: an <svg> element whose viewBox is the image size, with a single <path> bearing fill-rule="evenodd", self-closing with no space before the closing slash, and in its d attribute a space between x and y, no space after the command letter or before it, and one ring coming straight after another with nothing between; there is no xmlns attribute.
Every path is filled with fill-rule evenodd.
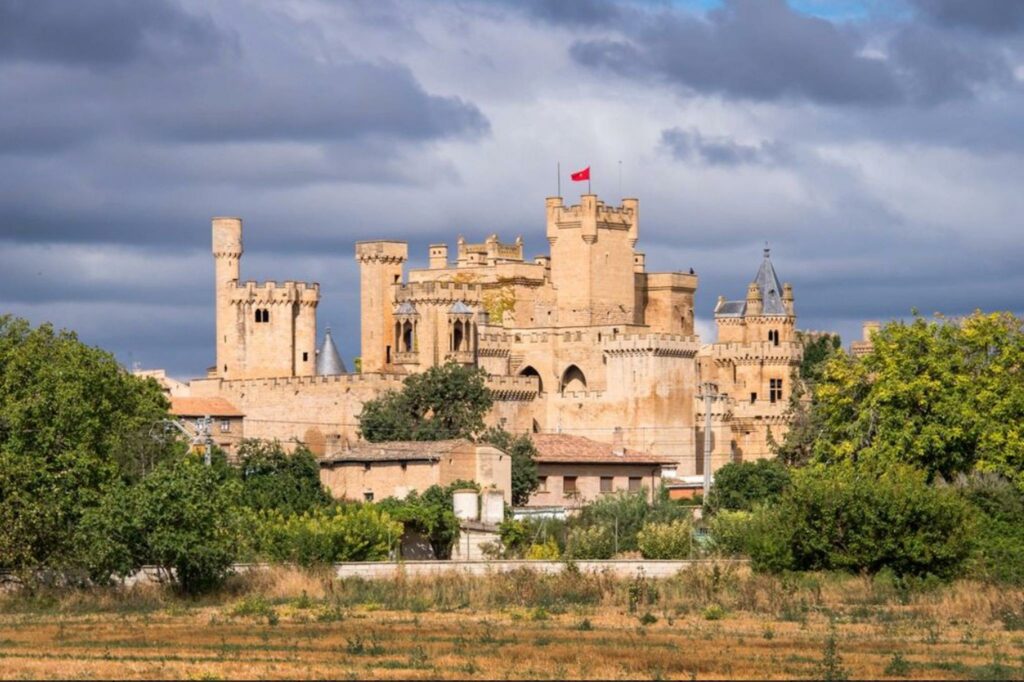
<svg viewBox="0 0 1024 682"><path fill-rule="evenodd" d="M194 61L227 42L209 17L171 0L5 0L0 58L105 68L151 58Z"/></svg>

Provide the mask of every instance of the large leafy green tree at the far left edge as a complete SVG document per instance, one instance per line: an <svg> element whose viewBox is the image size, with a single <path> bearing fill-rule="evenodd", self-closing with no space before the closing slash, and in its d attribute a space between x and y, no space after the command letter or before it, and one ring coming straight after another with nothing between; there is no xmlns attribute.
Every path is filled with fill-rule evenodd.
<svg viewBox="0 0 1024 682"><path fill-rule="evenodd" d="M167 407L74 333L0 316L0 569L80 565L77 527L101 489L173 454L148 437Z"/></svg>

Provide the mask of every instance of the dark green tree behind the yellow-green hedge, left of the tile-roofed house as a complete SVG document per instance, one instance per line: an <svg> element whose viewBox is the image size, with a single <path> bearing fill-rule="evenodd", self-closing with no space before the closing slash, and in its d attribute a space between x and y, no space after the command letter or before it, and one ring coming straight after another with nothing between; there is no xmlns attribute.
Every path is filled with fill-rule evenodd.
<svg viewBox="0 0 1024 682"><path fill-rule="evenodd" d="M287 453L276 440L245 440L239 446L242 504L256 510L302 514L331 503L319 464L305 445Z"/></svg>

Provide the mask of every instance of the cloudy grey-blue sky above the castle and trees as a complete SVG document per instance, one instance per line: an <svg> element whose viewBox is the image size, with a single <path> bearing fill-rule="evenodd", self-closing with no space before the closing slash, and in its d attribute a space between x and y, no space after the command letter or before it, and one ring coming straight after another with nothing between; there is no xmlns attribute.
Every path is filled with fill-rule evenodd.
<svg viewBox="0 0 1024 682"><path fill-rule="evenodd" d="M353 244L521 235L640 200L698 331L767 242L798 327L1024 311L1024 2L4 0L0 314L126 366L214 360L210 218L246 280L321 284L358 354Z"/></svg>

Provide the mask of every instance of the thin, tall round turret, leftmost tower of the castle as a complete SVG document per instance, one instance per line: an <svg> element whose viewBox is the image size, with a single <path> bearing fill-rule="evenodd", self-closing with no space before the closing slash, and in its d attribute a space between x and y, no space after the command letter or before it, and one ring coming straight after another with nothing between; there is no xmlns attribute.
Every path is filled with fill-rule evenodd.
<svg viewBox="0 0 1024 682"><path fill-rule="evenodd" d="M231 303L242 262L242 218L213 218L212 227L217 330L215 373L228 379L242 369L239 366L240 346L244 348L245 343L240 331L239 310Z"/></svg>

